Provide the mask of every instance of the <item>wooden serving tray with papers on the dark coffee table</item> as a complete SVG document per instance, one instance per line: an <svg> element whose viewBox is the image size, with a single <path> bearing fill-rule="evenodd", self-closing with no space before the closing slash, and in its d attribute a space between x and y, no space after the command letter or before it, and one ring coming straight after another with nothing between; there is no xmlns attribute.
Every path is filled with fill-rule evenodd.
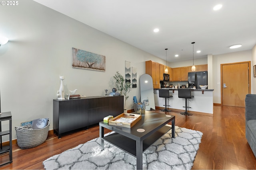
<svg viewBox="0 0 256 170"><path fill-rule="evenodd" d="M113 119L110 119L108 121L108 124L131 128L140 119L141 119L141 115L131 114L131 113L122 113L122 114L114 117Z"/></svg>

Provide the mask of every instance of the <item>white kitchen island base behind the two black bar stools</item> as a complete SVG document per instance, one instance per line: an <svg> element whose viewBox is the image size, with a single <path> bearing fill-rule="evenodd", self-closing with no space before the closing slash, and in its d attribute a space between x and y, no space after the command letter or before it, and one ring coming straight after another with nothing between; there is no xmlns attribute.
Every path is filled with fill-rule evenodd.
<svg viewBox="0 0 256 170"><path fill-rule="evenodd" d="M178 89L168 88L172 98L167 99L167 108L171 110L184 111L185 99L178 98ZM199 112L203 115L213 116L213 89L191 89L194 98L188 99L188 112ZM156 107L165 107L165 98L159 98L159 90L154 90Z"/></svg>

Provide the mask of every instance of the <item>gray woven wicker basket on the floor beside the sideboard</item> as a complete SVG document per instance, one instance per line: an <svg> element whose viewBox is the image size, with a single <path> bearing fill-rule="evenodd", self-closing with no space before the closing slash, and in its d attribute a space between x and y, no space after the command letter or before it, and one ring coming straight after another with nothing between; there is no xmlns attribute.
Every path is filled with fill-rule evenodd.
<svg viewBox="0 0 256 170"><path fill-rule="evenodd" d="M25 129L23 127L15 127L18 146L22 149L33 148L41 145L48 137L50 120L47 126L42 129Z"/></svg>

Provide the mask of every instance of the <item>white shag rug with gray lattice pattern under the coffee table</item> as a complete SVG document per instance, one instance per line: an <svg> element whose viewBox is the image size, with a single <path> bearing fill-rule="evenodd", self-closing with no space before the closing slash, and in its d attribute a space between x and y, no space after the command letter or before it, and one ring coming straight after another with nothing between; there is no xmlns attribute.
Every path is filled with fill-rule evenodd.
<svg viewBox="0 0 256 170"><path fill-rule="evenodd" d="M175 127L175 138L172 138L171 132L172 130L168 131L143 153L143 169L190 170L192 168L203 133L178 126ZM101 151L100 148L100 139L92 139L44 160L44 168L46 170L136 169L134 156L106 141L104 141L104 150Z"/></svg>

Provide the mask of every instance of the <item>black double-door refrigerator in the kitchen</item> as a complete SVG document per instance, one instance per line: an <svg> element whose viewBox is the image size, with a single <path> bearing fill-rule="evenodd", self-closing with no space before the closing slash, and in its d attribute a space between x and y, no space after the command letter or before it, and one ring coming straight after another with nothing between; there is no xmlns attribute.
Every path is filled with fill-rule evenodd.
<svg viewBox="0 0 256 170"><path fill-rule="evenodd" d="M190 88L193 88L192 86L196 86L196 89L201 89L199 85L208 85L208 72L189 72L188 84ZM208 89L208 87L206 89Z"/></svg>

